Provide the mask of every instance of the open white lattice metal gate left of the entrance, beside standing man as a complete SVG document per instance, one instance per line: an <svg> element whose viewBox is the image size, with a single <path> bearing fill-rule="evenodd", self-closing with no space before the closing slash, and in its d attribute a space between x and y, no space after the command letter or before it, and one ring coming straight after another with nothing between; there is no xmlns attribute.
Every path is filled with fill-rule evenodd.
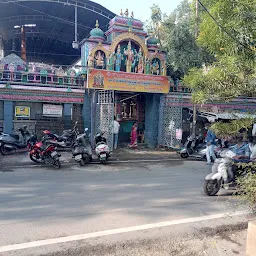
<svg viewBox="0 0 256 256"><path fill-rule="evenodd" d="M95 133L104 132L110 150L113 149L114 91L98 91L95 113Z"/></svg>

